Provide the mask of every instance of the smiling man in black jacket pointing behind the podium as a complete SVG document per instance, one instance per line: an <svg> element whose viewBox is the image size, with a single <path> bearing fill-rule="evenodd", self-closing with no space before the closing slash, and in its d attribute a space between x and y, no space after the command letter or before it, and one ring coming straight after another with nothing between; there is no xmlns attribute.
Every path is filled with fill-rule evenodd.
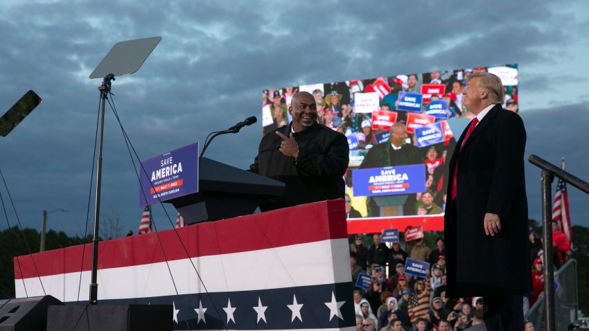
<svg viewBox="0 0 589 331"><path fill-rule="evenodd" d="M266 134L249 171L282 181L282 197L260 205L261 211L327 199L343 199L349 162L346 136L317 123L317 104L308 92L292 96L289 125Z"/></svg>

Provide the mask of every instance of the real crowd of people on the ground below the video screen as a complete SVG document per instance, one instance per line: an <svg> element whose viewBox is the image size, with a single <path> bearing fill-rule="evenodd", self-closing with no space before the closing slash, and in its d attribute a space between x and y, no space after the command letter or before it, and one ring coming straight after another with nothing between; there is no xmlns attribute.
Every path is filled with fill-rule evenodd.
<svg viewBox="0 0 589 331"><path fill-rule="evenodd" d="M568 258L570 243L561 235L554 222L554 263L556 269ZM522 305L531 307L543 297L543 251L540 239L530 228L531 275L534 290L524 297ZM353 301L358 331L410 330L486 330L484 298L450 298L446 296L446 249L443 238L435 247L428 247L423 239L393 242L390 247L380 241L380 234L355 235L350 244L352 281L356 284L360 273L369 274L368 289L355 287ZM561 261L559 256L563 257ZM426 278L405 272L407 258L428 262ZM525 309L526 310L526 309ZM534 330L527 322L525 330ZM480 329L479 329L480 328Z"/></svg>

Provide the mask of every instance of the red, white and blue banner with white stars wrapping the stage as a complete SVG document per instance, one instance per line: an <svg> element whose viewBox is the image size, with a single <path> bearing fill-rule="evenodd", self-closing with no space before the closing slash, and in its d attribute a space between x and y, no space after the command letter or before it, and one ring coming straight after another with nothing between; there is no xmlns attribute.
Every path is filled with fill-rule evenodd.
<svg viewBox="0 0 589 331"><path fill-rule="evenodd" d="M87 301L83 248L14 258L16 297ZM169 330L355 330L348 250L342 199L106 240L98 301L172 303Z"/></svg>

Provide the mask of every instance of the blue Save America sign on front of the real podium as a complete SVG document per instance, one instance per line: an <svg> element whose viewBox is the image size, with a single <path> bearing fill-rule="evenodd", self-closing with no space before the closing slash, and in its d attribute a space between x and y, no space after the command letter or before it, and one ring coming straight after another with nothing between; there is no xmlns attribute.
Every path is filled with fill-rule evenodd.
<svg viewBox="0 0 589 331"><path fill-rule="evenodd" d="M198 192L198 143L141 162L139 206Z"/></svg>

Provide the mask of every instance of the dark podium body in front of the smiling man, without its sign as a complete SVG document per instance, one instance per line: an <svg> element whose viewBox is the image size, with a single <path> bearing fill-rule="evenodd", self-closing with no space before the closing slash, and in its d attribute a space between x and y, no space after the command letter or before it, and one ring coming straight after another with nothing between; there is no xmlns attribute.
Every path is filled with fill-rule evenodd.
<svg viewBox="0 0 589 331"><path fill-rule="evenodd" d="M200 158L198 193L166 202L186 224L249 215L265 199L283 195L285 185L225 163Z"/></svg>

